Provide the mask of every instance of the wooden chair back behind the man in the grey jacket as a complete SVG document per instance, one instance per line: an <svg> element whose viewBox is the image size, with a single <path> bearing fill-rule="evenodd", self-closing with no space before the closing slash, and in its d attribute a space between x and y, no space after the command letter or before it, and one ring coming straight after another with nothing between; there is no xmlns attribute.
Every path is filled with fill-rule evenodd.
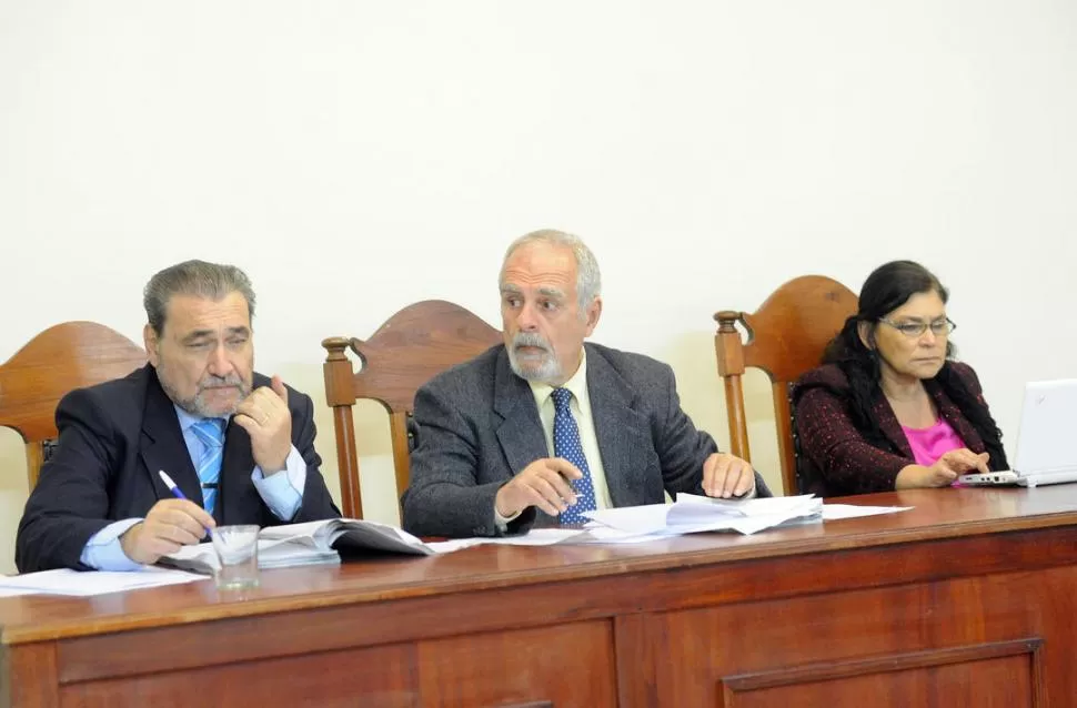
<svg viewBox="0 0 1077 708"><path fill-rule="evenodd" d="M441 372L477 356L502 341L501 331L477 315L443 300L409 305L390 317L369 340L330 337L326 350L325 398L333 408L341 507L345 517L362 518L359 456L352 406L372 398L389 412L397 498L407 487L413 434L409 422L415 392ZM356 373L346 350L362 362Z"/></svg>

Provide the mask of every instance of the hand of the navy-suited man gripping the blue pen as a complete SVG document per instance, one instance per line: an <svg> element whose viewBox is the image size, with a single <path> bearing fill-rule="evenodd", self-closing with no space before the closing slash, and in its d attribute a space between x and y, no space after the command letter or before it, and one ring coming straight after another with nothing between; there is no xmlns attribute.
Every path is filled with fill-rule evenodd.
<svg viewBox="0 0 1077 708"><path fill-rule="evenodd" d="M187 499L162 499L145 518L123 532L120 547L135 563L152 564L180 546L205 538L205 529L217 526L205 509Z"/></svg>

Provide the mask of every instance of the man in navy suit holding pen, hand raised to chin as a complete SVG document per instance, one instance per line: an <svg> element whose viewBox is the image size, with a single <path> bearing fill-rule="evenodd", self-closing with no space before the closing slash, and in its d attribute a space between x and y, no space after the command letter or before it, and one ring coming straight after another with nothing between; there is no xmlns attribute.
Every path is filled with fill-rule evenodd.
<svg viewBox="0 0 1077 708"><path fill-rule="evenodd" d="M149 364L57 407L57 448L16 539L23 573L133 570L219 524L340 516L310 397L254 372L243 271L187 261L150 279L143 304Z"/></svg>

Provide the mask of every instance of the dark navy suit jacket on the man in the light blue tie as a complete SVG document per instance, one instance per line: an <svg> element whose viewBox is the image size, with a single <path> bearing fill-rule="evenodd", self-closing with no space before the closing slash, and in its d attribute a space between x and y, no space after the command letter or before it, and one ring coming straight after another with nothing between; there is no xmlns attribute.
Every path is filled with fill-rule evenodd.
<svg viewBox="0 0 1077 708"><path fill-rule="evenodd" d="M254 386L270 385L254 374ZM303 504L291 522L340 516L325 488L314 452L313 404L289 388L292 444L306 461ZM145 516L158 500L172 498L158 474L165 471L189 499L202 504L202 488L172 401L157 371L144 366L124 378L72 391L57 407L60 437L41 469L16 538L22 573L49 568L85 569L79 562L87 542L112 522ZM282 524L265 506L254 483L251 438L239 425L224 435L218 524Z"/></svg>

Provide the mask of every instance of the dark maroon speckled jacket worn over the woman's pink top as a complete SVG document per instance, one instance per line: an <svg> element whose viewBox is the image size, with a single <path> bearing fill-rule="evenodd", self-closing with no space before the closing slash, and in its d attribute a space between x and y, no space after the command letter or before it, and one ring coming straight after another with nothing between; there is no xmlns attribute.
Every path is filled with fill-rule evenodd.
<svg viewBox="0 0 1077 708"><path fill-rule="evenodd" d="M947 366L954 368L976 397L976 405L986 412L987 402L973 367L959 362ZM965 441L965 446L977 454L985 452L984 438L938 382L925 380L924 387L938 414ZM848 378L835 364L812 370L797 382L794 401L804 492L819 496L893 492L897 474L916 464L908 438L882 388L873 399L872 416L885 439L875 442L866 439L866 431L857 428L849 415L848 391ZM1004 454L993 455L988 465L992 469L1008 469Z"/></svg>

